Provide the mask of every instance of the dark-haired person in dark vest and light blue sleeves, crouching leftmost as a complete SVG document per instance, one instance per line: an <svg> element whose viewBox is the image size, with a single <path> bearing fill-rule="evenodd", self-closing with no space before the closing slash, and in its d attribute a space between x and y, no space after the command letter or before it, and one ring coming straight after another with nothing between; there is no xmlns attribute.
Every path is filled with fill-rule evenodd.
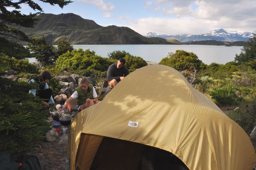
<svg viewBox="0 0 256 170"><path fill-rule="evenodd" d="M29 93L34 96L39 96L41 99L46 99L40 103L46 107L49 107L49 104L54 104L52 98L52 89L49 88L48 84L52 78L52 74L49 71L43 71L41 74L33 79L30 79L28 83L37 83L39 85L39 90L31 89Z"/></svg>

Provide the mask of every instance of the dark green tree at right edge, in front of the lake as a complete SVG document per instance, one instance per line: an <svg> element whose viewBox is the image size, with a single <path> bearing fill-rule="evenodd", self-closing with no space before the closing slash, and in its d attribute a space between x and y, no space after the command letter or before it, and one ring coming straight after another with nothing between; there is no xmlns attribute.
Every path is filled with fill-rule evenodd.
<svg viewBox="0 0 256 170"><path fill-rule="evenodd" d="M244 64L250 62L254 69L256 66L256 33L253 33L253 37L249 38L249 41L241 49L242 52L235 54L235 62L238 64Z"/></svg>

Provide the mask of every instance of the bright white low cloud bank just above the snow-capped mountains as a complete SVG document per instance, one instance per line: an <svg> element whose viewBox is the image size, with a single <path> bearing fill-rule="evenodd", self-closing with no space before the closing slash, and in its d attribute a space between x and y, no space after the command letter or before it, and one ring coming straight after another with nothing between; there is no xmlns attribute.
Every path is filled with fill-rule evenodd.
<svg viewBox="0 0 256 170"><path fill-rule="evenodd" d="M217 28L223 28L226 30L245 30L253 32L255 30L256 18L244 20L241 24L238 24L235 20L230 20L227 17L222 17L220 21L195 19L191 17L180 18L141 18L127 27L130 27L137 33L142 35L148 32L156 32L159 34L198 34L206 33Z"/></svg>

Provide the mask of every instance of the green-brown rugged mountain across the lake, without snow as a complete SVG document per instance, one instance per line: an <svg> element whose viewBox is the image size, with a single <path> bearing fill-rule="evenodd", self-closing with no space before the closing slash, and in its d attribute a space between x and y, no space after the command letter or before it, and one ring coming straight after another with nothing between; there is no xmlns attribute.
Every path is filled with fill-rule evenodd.
<svg viewBox="0 0 256 170"><path fill-rule="evenodd" d="M147 38L128 27L102 27L79 15L40 14L34 28L18 27L30 37L45 36L50 44L67 37L71 44L173 44L162 38Z"/></svg>

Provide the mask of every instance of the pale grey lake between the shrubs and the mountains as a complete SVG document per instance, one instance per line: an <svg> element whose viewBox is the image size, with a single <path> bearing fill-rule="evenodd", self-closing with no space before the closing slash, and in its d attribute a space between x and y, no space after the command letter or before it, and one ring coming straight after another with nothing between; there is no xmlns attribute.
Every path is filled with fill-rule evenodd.
<svg viewBox="0 0 256 170"><path fill-rule="evenodd" d="M96 55L107 57L107 53L116 50L129 52L133 56L143 58L145 61L160 62L162 58L168 55L168 52L176 50L185 50L195 53L205 64L213 62L226 64L234 61L235 54L240 54L242 46L206 46L206 45L74 45L75 49L90 49L95 51ZM29 59L34 62L34 58Z"/></svg>

